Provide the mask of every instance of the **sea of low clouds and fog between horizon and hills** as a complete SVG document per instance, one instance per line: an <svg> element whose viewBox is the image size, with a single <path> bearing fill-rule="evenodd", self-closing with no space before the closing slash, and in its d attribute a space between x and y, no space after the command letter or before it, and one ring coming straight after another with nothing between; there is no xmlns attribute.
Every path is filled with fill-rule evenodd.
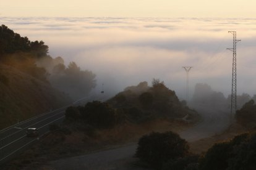
<svg viewBox="0 0 256 170"><path fill-rule="evenodd" d="M2 24L32 41L43 40L53 57L74 60L97 75L98 85L117 92L160 78L183 98L190 87L209 83L231 90L233 36L237 31L237 93L256 94L256 19L219 18L6 18ZM248 82L248 83L247 83ZM99 87L100 88L100 87Z"/></svg>

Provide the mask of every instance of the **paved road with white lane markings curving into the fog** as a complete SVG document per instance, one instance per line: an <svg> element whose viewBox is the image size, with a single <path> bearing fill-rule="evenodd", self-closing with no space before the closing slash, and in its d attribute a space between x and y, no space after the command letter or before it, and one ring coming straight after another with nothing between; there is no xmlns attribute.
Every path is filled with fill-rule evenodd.
<svg viewBox="0 0 256 170"><path fill-rule="evenodd" d="M77 100L71 105L84 105L92 100L105 100L105 95L90 95L83 99ZM14 158L18 153L33 145L43 134L49 132L49 124L61 123L64 119L66 107L44 113L34 118L27 119L13 126L7 127L0 131L0 165L11 158ZM28 127L36 127L39 130L40 136L27 137L25 131Z"/></svg>

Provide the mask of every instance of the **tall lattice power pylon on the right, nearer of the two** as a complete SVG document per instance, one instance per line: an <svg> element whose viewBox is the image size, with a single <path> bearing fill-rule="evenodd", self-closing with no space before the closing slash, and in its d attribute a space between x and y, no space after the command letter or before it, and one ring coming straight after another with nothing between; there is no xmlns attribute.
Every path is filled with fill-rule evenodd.
<svg viewBox="0 0 256 170"><path fill-rule="evenodd" d="M231 93L231 113L230 122L233 121L233 116L236 114L236 43L241 41L236 39L236 31L228 31L233 34L233 48L228 50L233 51L233 68L232 68L232 93Z"/></svg>

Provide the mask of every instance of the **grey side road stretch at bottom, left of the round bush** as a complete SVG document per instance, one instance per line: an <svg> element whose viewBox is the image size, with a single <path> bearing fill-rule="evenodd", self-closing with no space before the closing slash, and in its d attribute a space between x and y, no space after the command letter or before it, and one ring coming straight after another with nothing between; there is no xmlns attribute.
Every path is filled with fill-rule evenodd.
<svg viewBox="0 0 256 170"><path fill-rule="evenodd" d="M137 160L137 158L134 158L136 148L137 145L114 148L103 152L53 161L48 166L56 170L143 170L145 168L140 168L133 164Z"/></svg>

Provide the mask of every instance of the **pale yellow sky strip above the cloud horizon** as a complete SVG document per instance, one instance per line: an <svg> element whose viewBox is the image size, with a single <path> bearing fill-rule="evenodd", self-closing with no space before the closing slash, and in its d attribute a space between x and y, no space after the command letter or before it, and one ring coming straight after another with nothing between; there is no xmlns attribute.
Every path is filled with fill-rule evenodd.
<svg viewBox="0 0 256 170"><path fill-rule="evenodd" d="M255 0L0 0L4 17L256 17Z"/></svg>

